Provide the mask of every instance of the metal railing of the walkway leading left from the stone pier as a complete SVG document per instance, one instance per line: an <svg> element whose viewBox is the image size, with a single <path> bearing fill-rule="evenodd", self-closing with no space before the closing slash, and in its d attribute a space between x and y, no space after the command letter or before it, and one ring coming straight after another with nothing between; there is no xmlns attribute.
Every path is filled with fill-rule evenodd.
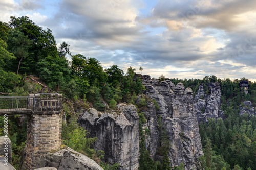
<svg viewBox="0 0 256 170"><path fill-rule="evenodd" d="M29 96L0 97L0 112L32 111L33 101Z"/></svg>

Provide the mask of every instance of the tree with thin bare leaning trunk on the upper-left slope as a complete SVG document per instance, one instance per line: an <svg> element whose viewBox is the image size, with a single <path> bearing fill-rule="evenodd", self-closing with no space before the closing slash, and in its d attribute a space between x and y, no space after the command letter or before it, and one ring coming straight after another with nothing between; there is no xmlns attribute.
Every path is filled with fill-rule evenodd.
<svg viewBox="0 0 256 170"><path fill-rule="evenodd" d="M22 59L26 58L29 54L28 49L31 45L31 40L28 39L28 36L25 36L22 32L14 29L11 31L8 38L8 50L11 51L17 58L19 58L17 74Z"/></svg>

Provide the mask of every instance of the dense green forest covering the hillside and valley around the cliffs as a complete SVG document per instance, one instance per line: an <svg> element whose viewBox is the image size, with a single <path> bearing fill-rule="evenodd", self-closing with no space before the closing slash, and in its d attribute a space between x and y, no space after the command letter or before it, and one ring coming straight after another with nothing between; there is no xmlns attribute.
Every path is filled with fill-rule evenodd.
<svg viewBox="0 0 256 170"><path fill-rule="evenodd" d="M67 59L71 57L71 61ZM137 73L143 72L140 67ZM27 16L10 17L9 23L0 22L0 96L28 95L33 92L61 93L65 97L64 107L67 124L62 125L62 143L87 155L103 169L117 169L118 164L109 166L102 163L103 151L95 151L90 146L97 138L88 138L86 130L76 122L77 115L72 112L79 108L94 107L98 111L115 108L119 103L135 104L138 94L145 87L140 79L133 79L136 69L129 67L126 73L112 65L103 69L100 61L81 54L71 54L70 45L62 42L59 47L50 29L44 30ZM30 81L38 77L42 87ZM159 81L165 80L162 75ZM249 82L248 94L241 92L239 83L246 78L221 80L216 76L203 79L170 79L175 85L182 82L190 87L195 95L200 84L219 82L221 84L221 110L226 119L208 119L199 123L199 131L204 156L200 157L200 169L256 169L256 117L239 116L243 101L251 101L256 106L256 82ZM209 91L206 91L208 93ZM142 103L137 104L137 108ZM72 107L71 107L72 106ZM157 104L155 104L157 108ZM143 122L143 115L140 122ZM9 118L9 138L12 141L13 165L19 168L20 155L26 145L26 123L18 124L18 117ZM4 119L0 117L0 136L3 136ZM159 127L168 149L165 130ZM170 169L170 162L158 162L150 158L144 147L144 132L140 131L140 168ZM75 139L75 140L73 140ZM184 165L174 169L184 169Z"/></svg>

